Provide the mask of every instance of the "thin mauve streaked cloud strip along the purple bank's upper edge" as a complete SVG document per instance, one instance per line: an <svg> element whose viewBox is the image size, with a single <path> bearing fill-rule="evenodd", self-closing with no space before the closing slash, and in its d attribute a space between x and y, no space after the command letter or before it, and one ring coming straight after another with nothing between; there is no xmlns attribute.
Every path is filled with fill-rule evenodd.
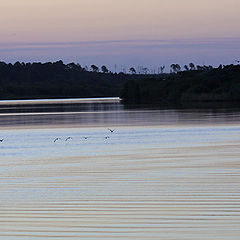
<svg viewBox="0 0 240 240"><path fill-rule="evenodd" d="M86 50L101 49L106 51L115 47L126 48L195 48L219 47L235 48L240 46L240 38L207 38L178 40L106 40L106 41L74 41L74 42L12 42L0 43L0 51L51 50L67 48L84 48Z"/></svg>

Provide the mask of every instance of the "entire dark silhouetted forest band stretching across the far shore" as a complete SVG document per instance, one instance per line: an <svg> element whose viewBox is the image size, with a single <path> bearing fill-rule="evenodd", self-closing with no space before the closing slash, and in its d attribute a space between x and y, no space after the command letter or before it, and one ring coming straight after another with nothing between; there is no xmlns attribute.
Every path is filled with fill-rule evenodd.
<svg viewBox="0 0 240 240"><path fill-rule="evenodd" d="M147 68L113 73L61 60L47 63L0 62L0 99L121 97L127 104L240 101L240 65L172 64L171 72Z"/></svg>

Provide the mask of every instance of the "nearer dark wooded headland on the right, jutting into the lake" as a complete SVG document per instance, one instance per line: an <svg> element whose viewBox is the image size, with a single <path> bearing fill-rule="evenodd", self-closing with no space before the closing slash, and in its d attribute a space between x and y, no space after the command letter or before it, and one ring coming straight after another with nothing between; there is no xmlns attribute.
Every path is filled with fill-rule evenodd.
<svg viewBox="0 0 240 240"><path fill-rule="evenodd" d="M121 98L134 104L240 101L240 65L129 80Z"/></svg>

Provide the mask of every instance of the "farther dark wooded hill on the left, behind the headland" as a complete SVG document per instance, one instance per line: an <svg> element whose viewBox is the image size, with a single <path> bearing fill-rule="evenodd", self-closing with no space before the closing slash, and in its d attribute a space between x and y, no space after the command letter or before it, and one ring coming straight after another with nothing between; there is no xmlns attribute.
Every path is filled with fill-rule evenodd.
<svg viewBox="0 0 240 240"><path fill-rule="evenodd" d="M0 99L117 97L127 80L145 77L111 73L105 66L100 70L92 65L92 71L87 71L62 61L0 62Z"/></svg>

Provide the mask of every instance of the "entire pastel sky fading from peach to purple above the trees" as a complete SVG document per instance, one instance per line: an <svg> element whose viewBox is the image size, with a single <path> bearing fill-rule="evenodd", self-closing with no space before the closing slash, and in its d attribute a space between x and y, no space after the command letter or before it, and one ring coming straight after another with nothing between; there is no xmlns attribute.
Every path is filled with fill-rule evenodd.
<svg viewBox="0 0 240 240"><path fill-rule="evenodd" d="M231 64L239 0L0 0L2 61Z"/></svg>

